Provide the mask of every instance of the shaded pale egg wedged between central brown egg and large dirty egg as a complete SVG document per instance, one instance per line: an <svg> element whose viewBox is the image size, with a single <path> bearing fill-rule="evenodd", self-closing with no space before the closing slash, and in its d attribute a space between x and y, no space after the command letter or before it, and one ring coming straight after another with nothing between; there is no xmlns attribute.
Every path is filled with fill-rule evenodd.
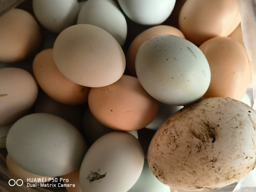
<svg viewBox="0 0 256 192"><path fill-rule="evenodd" d="M166 105L159 102L158 112L155 119L145 128L157 130L172 114L183 108L183 106Z"/></svg>

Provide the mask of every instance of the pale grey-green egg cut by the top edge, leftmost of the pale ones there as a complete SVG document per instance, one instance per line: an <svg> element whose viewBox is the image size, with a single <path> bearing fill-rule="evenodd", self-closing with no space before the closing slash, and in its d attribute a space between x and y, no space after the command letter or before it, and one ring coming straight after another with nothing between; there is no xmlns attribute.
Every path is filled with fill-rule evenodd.
<svg viewBox="0 0 256 192"><path fill-rule="evenodd" d="M36 19L49 31L59 34L76 23L77 0L33 0Z"/></svg>

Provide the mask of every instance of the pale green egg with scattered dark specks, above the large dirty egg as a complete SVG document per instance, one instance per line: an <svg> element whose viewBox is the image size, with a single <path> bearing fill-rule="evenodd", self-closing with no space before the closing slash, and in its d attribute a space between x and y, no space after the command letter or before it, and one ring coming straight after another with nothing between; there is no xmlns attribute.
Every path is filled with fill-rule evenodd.
<svg viewBox="0 0 256 192"><path fill-rule="evenodd" d="M149 95L174 106L200 99L211 79L203 52L188 40L173 35L146 40L137 52L135 69Z"/></svg>

